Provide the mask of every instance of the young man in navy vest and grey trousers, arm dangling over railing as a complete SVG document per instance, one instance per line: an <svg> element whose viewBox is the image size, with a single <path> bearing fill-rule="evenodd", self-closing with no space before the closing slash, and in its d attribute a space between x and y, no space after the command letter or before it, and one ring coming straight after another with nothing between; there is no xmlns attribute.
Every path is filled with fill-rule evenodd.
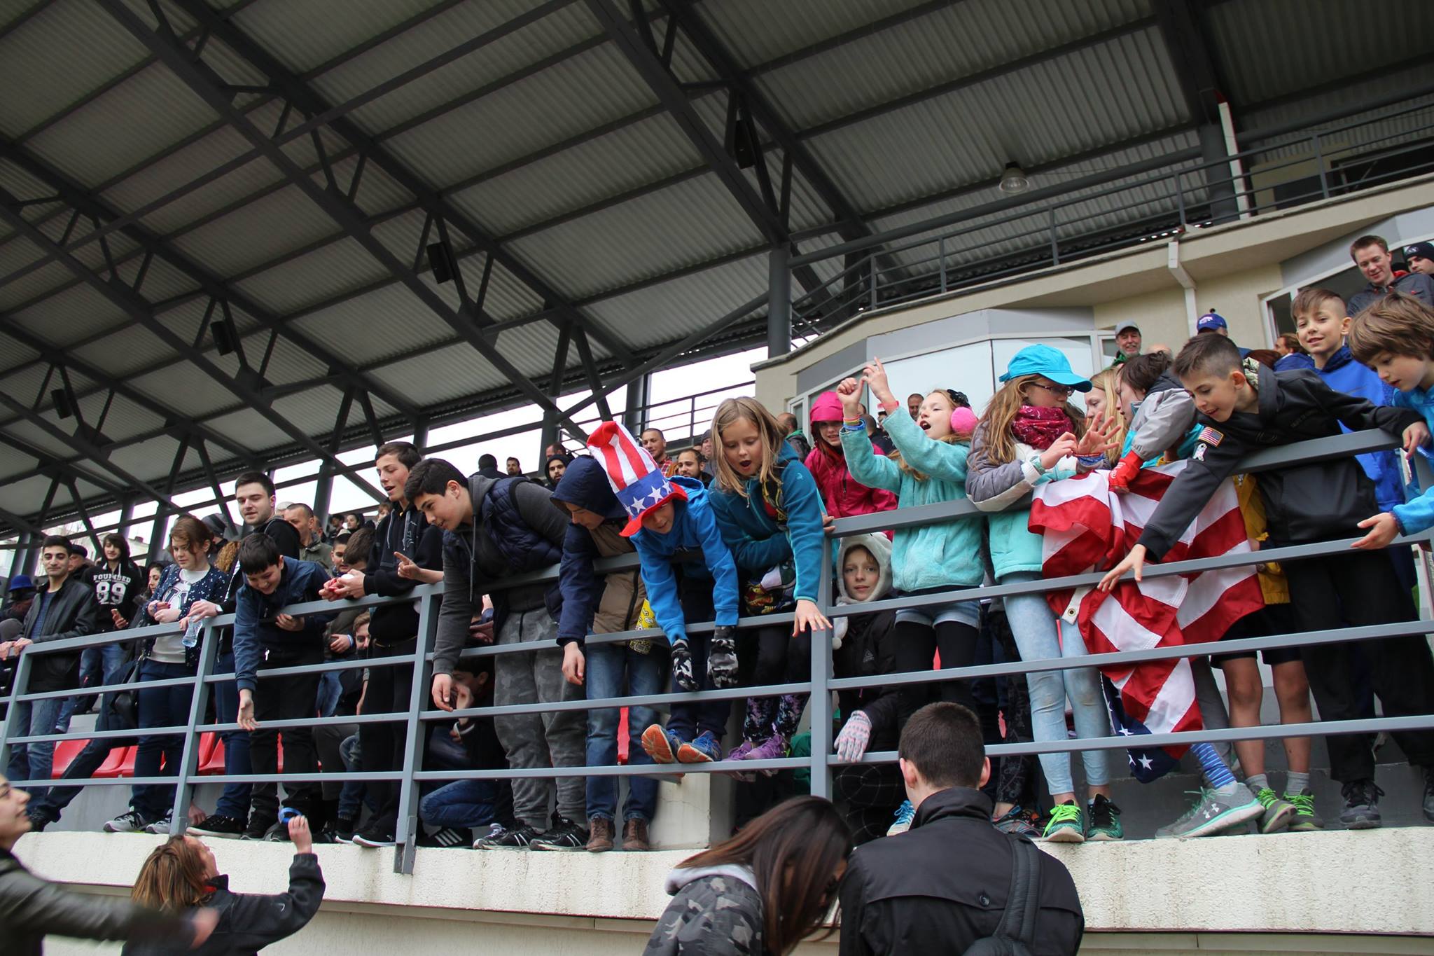
<svg viewBox="0 0 1434 956"><path fill-rule="evenodd" d="M551 704L581 699L582 692L562 677L558 636L562 595L556 585L519 585L490 591L503 578L556 565L562 558L566 522L552 506L548 489L522 477L465 479L443 459L426 459L409 474L404 496L443 529L443 609L433 648L433 702L453 709L453 668L472 625L482 612L483 592L493 599L493 634L498 644L535 644L541 651L503 654L496 661L493 702ZM515 770L582 767L582 711L512 714L495 717L498 738ZM516 830L479 840L476 847L521 850L546 828L548 849L578 850L587 846L582 826L584 778L559 777L558 811L549 828L548 804L554 783L513 781Z"/></svg>

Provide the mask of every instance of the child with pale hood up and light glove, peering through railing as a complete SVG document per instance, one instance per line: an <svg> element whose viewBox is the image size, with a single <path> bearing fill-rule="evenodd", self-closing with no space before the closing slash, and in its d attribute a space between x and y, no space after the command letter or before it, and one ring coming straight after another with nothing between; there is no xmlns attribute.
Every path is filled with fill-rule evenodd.
<svg viewBox="0 0 1434 956"><path fill-rule="evenodd" d="M892 543L886 535L842 539L836 569L837 606L880 601L892 591ZM839 678L895 672L896 612L835 616L832 649L832 672ZM839 691L837 699L846 717L833 741L839 758L859 761L869 750L896 750L901 720L895 687ZM906 798L895 764L852 763L837 768L833 783L858 844L883 836L892 814Z"/></svg>

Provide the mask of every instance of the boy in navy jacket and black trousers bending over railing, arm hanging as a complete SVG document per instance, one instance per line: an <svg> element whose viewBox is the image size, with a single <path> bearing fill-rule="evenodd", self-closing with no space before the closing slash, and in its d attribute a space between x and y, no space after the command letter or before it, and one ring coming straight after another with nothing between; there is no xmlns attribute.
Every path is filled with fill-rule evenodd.
<svg viewBox="0 0 1434 956"><path fill-rule="evenodd" d="M257 679L257 672L271 668L321 664L324 629L333 613L294 616L282 608L320 599L328 572L307 560L278 553L268 535L250 535L239 545L239 570L244 585L234 608L234 677L239 685L239 725L250 731L250 763L255 774L278 773L278 738L284 735L284 773L311 774L314 732L307 727L282 731L261 721L311 720L318 699L318 674L291 674ZM287 803L310 820L320 810L315 784L285 784ZM251 840L285 840L278 823L278 784L254 784L250 826Z"/></svg>

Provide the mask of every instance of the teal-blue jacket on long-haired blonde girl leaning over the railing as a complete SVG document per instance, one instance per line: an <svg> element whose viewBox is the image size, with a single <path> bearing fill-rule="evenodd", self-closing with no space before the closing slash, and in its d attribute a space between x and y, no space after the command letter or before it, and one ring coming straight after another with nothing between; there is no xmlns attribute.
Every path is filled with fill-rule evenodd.
<svg viewBox="0 0 1434 956"><path fill-rule="evenodd" d="M822 529L826 510L822 507L822 490L789 443L782 443L777 462L782 463L777 505L787 515L784 527L767 515L757 477L747 480L747 497L721 490L708 492L708 496L721 537L731 549L737 566L760 575L792 559L797 572L794 598L815 602L822 580L822 546L826 542L826 532Z"/></svg>

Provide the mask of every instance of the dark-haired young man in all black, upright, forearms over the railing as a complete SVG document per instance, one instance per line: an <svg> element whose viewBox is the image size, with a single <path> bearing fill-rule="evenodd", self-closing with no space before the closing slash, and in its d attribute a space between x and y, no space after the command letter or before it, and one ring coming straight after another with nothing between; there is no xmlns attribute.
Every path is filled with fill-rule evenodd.
<svg viewBox="0 0 1434 956"><path fill-rule="evenodd" d="M390 441L379 449L374 467L393 509L379 522L373 549L367 555L350 555L363 570L350 570L330 580L324 598L363 598L383 595L397 598L419 583L435 583L443 572L443 532L429 525L423 512L403 496L409 470L422 460L419 450L407 441ZM400 560L399 556L403 556ZM412 575L412 576L406 576ZM370 656L399 656L413 654L419 639L419 612L413 601L376 605L371 608L369 639ZM413 689L413 666L369 668L369 689L364 692L366 714L407 712ZM403 724L360 724L358 744L363 770L386 771L403 765L407 732ZM369 824L354 836L354 843L366 847L391 847L399 821L399 787L394 781L370 781L370 795L377 808Z"/></svg>

